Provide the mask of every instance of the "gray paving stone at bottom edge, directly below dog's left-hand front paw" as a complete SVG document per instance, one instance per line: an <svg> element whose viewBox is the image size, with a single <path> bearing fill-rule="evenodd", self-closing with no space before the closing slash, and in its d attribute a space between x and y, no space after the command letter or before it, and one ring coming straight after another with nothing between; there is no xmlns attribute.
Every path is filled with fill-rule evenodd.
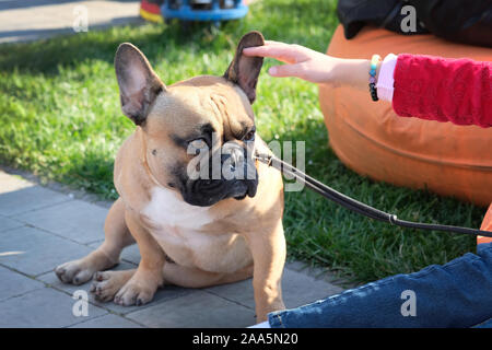
<svg viewBox="0 0 492 350"><path fill-rule="evenodd" d="M199 290L126 317L149 327L234 328L256 323L254 311Z"/></svg>

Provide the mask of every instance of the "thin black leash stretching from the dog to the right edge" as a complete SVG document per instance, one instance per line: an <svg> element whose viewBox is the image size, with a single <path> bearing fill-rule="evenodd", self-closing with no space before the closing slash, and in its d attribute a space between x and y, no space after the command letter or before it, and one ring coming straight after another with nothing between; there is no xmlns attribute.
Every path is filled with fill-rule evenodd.
<svg viewBox="0 0 492 350"><path fill-rule="evenodd" d="M325 197L329 200L332 200L336 203L338 203L342 207L345 207L347 209L350 209L356 213L360 213L361 215L364 215L364 217L367 217L367 218L371 218L374 220L389 222L390 224L394 224L397 226L402 226L402 228L444 231L444 232L456 232L456 233L462 233L462 234L471 234L471 235L481 235L481 236L485 236L485 237L492 237L492 232L489 232L489 231L400 220L395 214L389 214L389 213L378 210L376 208L364 205L364 203L362 203L353 198L350 198L343 194L340 194L339 191L332 189L331 187L329 187L325 184L321 184L317 179L304 174L298 168L292 166L289 163L283 162L282 160L279 160L278 158L276 158L273 155L256 154L255 159L257 159L258 161L260 161L269 166L273 166L274 168L277 168L281 173L283 173L284 175L292 176L297 182L306 185L308 188L311 188L315 192L318 192L323 197Z"/></svg>

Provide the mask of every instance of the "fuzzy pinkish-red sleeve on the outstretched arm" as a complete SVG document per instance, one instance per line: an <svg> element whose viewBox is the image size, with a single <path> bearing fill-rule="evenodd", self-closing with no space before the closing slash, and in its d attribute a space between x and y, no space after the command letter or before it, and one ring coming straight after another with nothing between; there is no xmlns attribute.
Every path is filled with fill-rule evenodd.
<svg viewBox="0 0 492 350"><path fill-rule="evenodd" d="M402 117L492 126L492 63L399 55L393 108Z"/></svg>

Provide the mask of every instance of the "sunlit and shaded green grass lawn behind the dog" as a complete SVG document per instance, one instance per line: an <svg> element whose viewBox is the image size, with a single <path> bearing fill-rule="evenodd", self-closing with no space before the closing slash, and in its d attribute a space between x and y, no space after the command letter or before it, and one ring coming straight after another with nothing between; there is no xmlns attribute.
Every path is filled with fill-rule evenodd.
<svg viewBox="0 0 492 350"><path fill-rule="evenodd" d="M338 24L336 1L268 0L221 31L178 24L116 27L32 44L0 46L0 163L28 170L114 199L113 162L133 126L122 116L113 69L121 42L139 46L163 81L222 74L238 38L250 30L269 39L325 51ZM266 68L271 66L266 61ZM267 141L305 140L306 171L333 188L400 219L478 226L483 209L426 191L375 183L348 170L328 147L317 88L272 79L263 68L254 105ZM308 190L286 194L289 255L358 282L475 249L460 235L403 230L348 212Z"/></svg>

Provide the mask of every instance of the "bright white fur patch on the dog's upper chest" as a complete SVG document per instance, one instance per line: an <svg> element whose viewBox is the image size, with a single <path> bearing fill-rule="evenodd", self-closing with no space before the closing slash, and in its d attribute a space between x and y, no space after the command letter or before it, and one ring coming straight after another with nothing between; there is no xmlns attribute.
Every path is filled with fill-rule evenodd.
<svg viewBox="0 0 492 350"><path fill-rule="evenodd" d="M208 211L209 208L188 205L173 190L154 187L142 213L162 228L197 230L212 221Z"/></svg>

